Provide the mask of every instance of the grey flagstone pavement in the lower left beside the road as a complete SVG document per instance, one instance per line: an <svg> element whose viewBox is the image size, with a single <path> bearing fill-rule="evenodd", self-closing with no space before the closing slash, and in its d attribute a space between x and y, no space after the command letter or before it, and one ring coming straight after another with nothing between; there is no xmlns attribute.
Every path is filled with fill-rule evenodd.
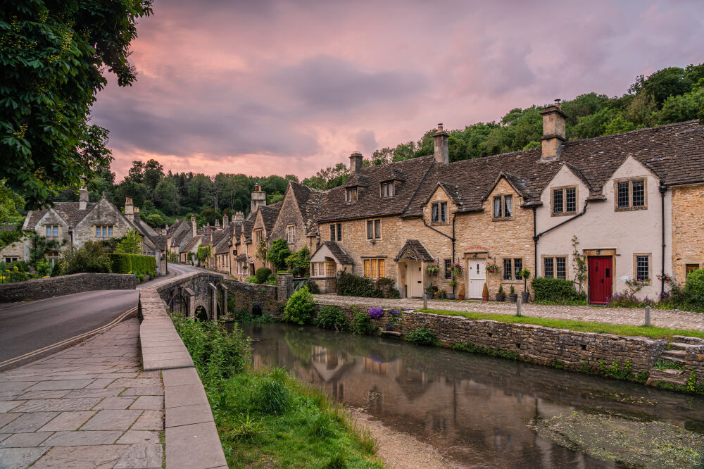
<svg viewBox="0 0 704 469"><path fill-rule="evenodd" d="M139 320L0 373L0 468L161 468L163 382Z"/></svg>

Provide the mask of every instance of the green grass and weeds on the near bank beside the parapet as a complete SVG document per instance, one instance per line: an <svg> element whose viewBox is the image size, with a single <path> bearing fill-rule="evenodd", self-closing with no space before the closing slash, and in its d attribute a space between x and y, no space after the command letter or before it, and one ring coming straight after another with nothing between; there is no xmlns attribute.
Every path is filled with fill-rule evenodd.
<svg viewBox="0 0 704 469"><path fill-rule="evenodd" d="M230 468L382 468L377 442L325 392L281 368L251 370L249 338L171 316L206 388Z"/></svg>

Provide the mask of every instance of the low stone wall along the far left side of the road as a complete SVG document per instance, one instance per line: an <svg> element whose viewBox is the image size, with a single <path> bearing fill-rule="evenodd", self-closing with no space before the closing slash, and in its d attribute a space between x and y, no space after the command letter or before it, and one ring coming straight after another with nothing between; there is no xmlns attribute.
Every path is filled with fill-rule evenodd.
<svg viewBox="0 0 704 469"><path fill-rule="evenodd" d="M92 290L134 290L132 274L80 273L0 284L0 303L51 298Z"/></svg>

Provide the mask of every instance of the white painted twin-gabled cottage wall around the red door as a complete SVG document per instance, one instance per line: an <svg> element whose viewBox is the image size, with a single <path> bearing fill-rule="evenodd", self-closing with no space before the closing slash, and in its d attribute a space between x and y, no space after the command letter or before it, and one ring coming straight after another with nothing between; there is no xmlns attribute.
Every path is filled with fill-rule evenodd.
<svg viewBox="0 0 704 469"><path fill-rule="evenodd" d="M614 180L624 177L644 177L646 179L647 206L645 210L615 211ZM624 292L626 284L621 277L634 277L633 255L649 253L650 285L636 294L639 298L657 298L660 294L660 281L657 275L662 265L662 221L661 199L658 185L660 181L653 173L635 158L629 156L612 177L605 183L605 201L589 202L586 213L565 223L555 230L542 235L538 244L538 276L543 275L543 256L567 255L567 277L574 279L572 265L572 236L579 239L579 251L585 249L615 249L616 268L613 279L613 292ZM584 208L589 189L572 171L563 166L553 181L541 194L543 205L536 213L536 231L541 233L550 227L572 218L551 215L551 189L561 186L577 186L577 213ZM672 194L665 194L665 273L672 274ZM584 285L585 289L587 285Z"/></svg>

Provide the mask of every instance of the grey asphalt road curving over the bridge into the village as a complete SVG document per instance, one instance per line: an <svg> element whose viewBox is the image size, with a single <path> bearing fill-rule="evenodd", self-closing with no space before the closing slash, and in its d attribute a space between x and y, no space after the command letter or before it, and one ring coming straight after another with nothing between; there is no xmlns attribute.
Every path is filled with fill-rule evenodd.
<svg viewBox="0 0 704 469"><path fill-rule="evenodd" d="M170 276L196 271L198 269L191 266L169 264ZM151 282L139 284L137 288L148 287ZM0 370L14 368L75 343L68 342L61 348L27 357L26 360L8 364L5 368L1 365L12 358L107 325L137 306L138 299L137 290L99 290L0 305Z"/></svg>

